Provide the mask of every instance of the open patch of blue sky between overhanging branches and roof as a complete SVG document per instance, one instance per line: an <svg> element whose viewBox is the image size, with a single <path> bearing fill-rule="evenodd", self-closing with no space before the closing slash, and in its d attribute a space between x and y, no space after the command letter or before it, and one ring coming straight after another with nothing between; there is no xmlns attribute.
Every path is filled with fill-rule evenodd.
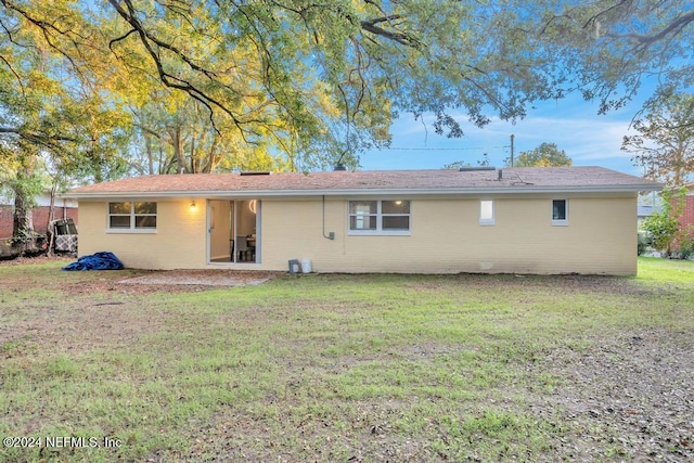
<svg viewBox="0 0 694 463"><path fill-rule="evenodd" d="M434 132L434 117L426 127L411 115L402 114L391 128L390 150L374 150L360 155L363 170L439 169L457 160L477 165L484 153L491 166L503 166L510 155L511 134L515 136L514 153L536 149L543 142L555 143L574 159L575 166L602 166L631 175L642 175L633 166L631 155L620 150L634 114L650 94L639 94L626 107L597 115L599 102L586 102L580 94L536 104L527 116L515 124L493 118L484 128L468 123L460 113L465 134L448 139ZM426 120L426 118L425 118Z"/></svg>

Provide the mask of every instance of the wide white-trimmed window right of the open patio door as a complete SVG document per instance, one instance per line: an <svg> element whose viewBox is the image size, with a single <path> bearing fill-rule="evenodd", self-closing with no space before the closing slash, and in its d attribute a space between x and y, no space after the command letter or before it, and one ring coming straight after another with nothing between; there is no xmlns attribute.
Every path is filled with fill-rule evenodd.
<svg viewBox="0 0 694 463"><path fill-rule="evenodd" d="M350 234L409 234L410 202L372 200L349 202Z"/></svg>

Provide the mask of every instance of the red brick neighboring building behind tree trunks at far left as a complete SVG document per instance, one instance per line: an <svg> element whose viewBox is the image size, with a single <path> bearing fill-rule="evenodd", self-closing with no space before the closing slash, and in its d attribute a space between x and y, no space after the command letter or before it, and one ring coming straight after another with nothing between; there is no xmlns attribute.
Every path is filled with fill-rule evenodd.
<svg viewBox="0 0 694 463"><path fill-rule="evenodd" d="M46 234L49 211L51 209L51 195L44 193L35 198L36 206L31 209L34 231ZM73 219L77 223L77 202L68 198L55 198L53 218ZM12 236L14 222L14 198L0 196L0 239Z"/></svg>

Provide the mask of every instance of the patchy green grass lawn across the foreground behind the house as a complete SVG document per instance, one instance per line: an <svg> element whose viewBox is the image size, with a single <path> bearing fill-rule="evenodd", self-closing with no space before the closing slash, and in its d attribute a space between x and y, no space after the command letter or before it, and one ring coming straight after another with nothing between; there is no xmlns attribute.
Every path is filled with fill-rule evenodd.
<svg viewBox="0 0 694 463"><path fill-rule="evenodd" d="M659 413L633 370L692 377L694 262L145 294L61 265L0 266L2 461L622 461Z"/></svg>

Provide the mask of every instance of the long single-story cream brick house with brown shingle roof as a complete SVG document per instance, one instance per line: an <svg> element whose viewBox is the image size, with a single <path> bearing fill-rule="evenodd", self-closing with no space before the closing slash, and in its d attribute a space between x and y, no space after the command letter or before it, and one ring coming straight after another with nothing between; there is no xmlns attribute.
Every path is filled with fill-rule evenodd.
<svg viewBox="0 0 694 463"><path fill-rule="evenodd" d="M637 272L637 200L601 167L150 176L73 190L79 254L132 268Z"/></svg>

